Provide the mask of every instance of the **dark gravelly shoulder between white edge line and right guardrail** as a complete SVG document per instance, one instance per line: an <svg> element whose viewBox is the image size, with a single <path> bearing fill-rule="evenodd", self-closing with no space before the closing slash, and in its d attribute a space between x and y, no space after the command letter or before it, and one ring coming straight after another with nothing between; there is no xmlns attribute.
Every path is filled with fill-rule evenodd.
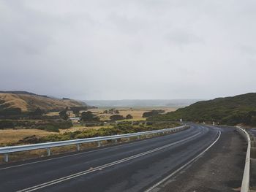
<svg viewBox="0 0 256 192"><path fill-rule="evenodd" d="M235 128L222 127L222 136L210 150L154 191L240 191L245 155L246 141Z"/></svg>

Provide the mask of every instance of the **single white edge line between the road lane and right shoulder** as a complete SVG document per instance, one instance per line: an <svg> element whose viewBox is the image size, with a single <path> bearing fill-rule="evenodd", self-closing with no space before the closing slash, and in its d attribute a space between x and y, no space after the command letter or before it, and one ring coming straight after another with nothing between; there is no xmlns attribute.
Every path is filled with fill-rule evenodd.
<svg viewBox="0 0 256 192"><path fill-rule="evenodd" d="M217 139L209 146L206 148L206 150L203 150L202 153L200 153L199 155L197 155L195 158L192 158L189 162L187 162L187 164L184 164L183 166L181 166L180 168L176 169L176 171L172 172L171 174L169 174L167 177L165 177L164 179L160 180L158 183L156 183L155 185L151 186L151 188L148 188L145 192L149 192L152 191L154 188L157 188L157 186L161 185L162 183L164 183L166 180L170 179L170 177L173 177L174 174L178 173L181 171L181 169L184 169L186 166L188 166L189 164L192 164L195 160L197 160L197 158L199 158L201 155L203 155L203 153L206 153L207 150L209 150L218 140L219 137L221 135L221 131L219 131L219 136L217 137Z"/></svg>

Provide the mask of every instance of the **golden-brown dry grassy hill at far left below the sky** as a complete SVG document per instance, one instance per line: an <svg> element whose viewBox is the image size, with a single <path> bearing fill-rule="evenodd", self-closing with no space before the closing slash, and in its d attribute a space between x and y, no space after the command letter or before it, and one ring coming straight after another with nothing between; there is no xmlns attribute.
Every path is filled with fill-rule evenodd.
<svg viewBox="0 0 256 192"><path fill-rule="evenodd" d="M63 110L66 107L82 107L86 103L72 99L53 99L23 91L0 92L0 110L20 108L23 112L41 110Z"/></svg>

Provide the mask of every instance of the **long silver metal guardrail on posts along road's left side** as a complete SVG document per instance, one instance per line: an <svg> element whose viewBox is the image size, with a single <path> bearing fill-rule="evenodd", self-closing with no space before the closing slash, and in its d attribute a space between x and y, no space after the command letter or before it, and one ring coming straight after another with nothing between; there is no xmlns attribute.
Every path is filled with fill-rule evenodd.
<svg viewBox="0 0 256 192"><path fill-rule="evenodd" d="M98 147L101 146L101 142L105 140L115 140L116 139L122 139L122 138L129 138L129 137L140 137L143 135L148 134L159 134L159 133L165 133L165 132L176 132L180 131L186 128L186 126L179 126L174 128L165 128L165 129L159 129L154 131L144 131L144 132L138 132L138 133L132 133L132 134L119 134L119 135L111 135L106 137L92 137L92 138L86 138L86 139L73 139L73 140L67 140L67 141L61 141L61 142L45 142L45 143L38 143L33 145L18 145L18 146L10 146L10 147L0 147L0 154L4 154L4 161L9 161L9 153L15 153L15 152L21 152L21 151L27 151L27 150L39 150L39 149L47 149L48 156L50 156L50 148L51 147L62 147L67 145L76 145L77 150L80 150L80 144L82 143L88 143L88 142L98 142Z"/></svg>

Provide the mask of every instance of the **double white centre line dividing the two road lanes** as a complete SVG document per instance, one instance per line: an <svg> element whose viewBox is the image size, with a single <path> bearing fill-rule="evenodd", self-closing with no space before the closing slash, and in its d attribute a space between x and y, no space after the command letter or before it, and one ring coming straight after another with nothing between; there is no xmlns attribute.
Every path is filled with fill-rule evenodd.
<svg viewBox="0 0 256 192"><path fill-rule="evenodd" d="M42 184L39 184L39 185L35 185L35 186L30 187L30 188L25 188L25 189L20 190L20 191L18 191L18 192L36 191L36 190L38 190L38 189L40 189L40 188L45 188L45 187L48 187L48 186L50 186L50 185L54 185L54 184L56 184L56 183L61 183L61 182L64 182L64 181L66 181L66 180L71 180L71 179L73 179L73 178L75 178L75 177L80 177L80 176L82 176L82 175L84 175L84 174L89 174L89 173L91 173L91 172L96 172L96 171L98 171L98 170L102 170L102 169L107 168L107 167L109 167L109 166L114 166L114 165L116 165L116 164L121 164L121 163L124 163L124 162L126 162L126 161L132 160L132 159L134 159L134 158L139 158L139 157L141 157L141 156L143 156L143 155L148 155L148 154L150 154L150 153L157 152L158 150L163 150L163 149L165 149L165 148L167 148L167 147L171 147L171 146L173 146L173 145L177 145L177 144L179 144L179 143L181 143L181 142L184 142L184 141L187 141L187 140L189 140L189 139L192 139L193 137L197 137L197 135L199 135L199 134L201 134L201 132L199 132L199 133L197 133L197 134L195 134L195 135L192 135L191 137L187 137L186 139L181 139L181 140L179 140L179 141L177 141L177 142L173 142L173 143L170 143L170 144L168 144L168 145L164 145L164 146L162 146L162 147L157 147L157 148L155 148L155 149L153 149L153 150L148 150L148 151L146 151L146 152L139 153L139 154L137 154L137 155L132 155L132 156L130 156L130 157L128 157L128 158L123 158L123 159L118 160L118 161L113 161L113 162L111 162L111 163L109 163L109 164L105 164L105 165L102 165L102 166L97 166L97 167L95 167L95 168L93 168L93 169L88 169L88 170L83 171L83 172L78 172L78 173L75 173L75 174L70 174L70 175L68 175L68 176L66 176L66 177L61 177L61 178L59 178L59 179L51 180L51 181L49 181L49 182L42 183Z"/></svg>

